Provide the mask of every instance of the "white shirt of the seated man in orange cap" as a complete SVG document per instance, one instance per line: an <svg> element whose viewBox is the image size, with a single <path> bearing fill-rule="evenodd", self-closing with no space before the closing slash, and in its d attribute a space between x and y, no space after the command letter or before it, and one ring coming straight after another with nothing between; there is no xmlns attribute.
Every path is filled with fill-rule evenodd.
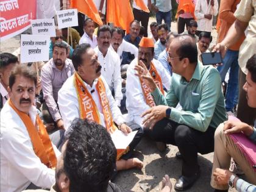
<svg viewBox="0 0 256 192"><path fill-rule="evenodd" d="M158 60L153 59L155 68L161 77L162 83L166 89L169 90L171 85L171 76L167 73L162 64ZM134 66L137 65L138 59L135 58L127 69L127 80L126 80L126 108L128 110L128 117L130 121L134 121L141 127L143 118L141 114L145 112L149 107L146 104L146 99L141 88L140 80L135 76Z"/></svg>

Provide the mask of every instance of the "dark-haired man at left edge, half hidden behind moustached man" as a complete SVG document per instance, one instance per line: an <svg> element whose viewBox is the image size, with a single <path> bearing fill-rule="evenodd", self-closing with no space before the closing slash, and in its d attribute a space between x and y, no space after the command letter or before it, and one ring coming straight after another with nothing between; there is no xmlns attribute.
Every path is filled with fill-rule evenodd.
<svg viewBox="0 0 256 192"><path fill-rule="evenodd" d="M18 63L18 57L9 52L0 54L0 110L8 100L7 87L9 86L10 71Z"/></svg>

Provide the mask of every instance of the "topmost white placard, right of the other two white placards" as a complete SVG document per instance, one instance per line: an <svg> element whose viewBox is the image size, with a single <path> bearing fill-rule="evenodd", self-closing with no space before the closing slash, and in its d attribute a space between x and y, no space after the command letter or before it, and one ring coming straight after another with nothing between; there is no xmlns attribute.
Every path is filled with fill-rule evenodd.
<svg viewBox="0 0 256 192"><path fill-rule="evenodd" d="M78 26L77 9L57 11L57 21L59 29Z"/></svg>

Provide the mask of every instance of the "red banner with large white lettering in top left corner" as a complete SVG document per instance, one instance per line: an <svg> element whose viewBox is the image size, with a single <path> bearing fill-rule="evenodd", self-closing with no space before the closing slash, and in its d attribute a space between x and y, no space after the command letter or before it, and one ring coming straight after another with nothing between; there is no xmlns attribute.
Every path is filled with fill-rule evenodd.
<svg viewBox="0 0 256 192"><path fill-rule="evenodd" d="M21 34L36 17L36 0L0 0L0 41Z"/></svg>

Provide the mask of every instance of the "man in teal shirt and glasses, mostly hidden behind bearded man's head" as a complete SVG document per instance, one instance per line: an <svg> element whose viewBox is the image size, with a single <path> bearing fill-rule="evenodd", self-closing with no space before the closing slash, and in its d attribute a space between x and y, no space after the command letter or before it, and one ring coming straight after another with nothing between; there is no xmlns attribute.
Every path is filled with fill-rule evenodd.
<svg viewBox="0 0 256 192"><path fill-rule="evenodd" d="M54 47L55 42L64 42L68 46L68 58L72 57L74 49L71 46L63 41L62 29L55 28L56 37L51 37L50 48L49 48L49 59L52 59L52 48Z"/></svg>

